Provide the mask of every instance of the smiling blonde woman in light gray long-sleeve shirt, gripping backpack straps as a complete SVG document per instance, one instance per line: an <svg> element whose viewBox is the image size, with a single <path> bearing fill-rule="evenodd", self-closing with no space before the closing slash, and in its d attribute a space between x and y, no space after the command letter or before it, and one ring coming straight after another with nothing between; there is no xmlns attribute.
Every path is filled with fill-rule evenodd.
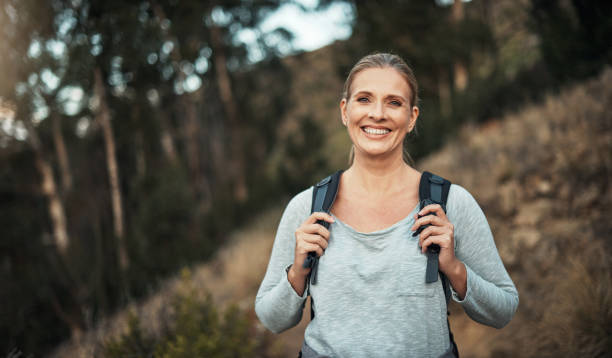
<svg viewBox="0 0 612 358"><path fill-rule="evenodd" d="M362 58L340 101L353 154L331 215L311 215L313 188L283 213L255 311L267 328L282 332L300 321L310 294L316 315L306 328L304 357L452 355L441 280L423 279L432 244L440 247L439 270L452 299L472 319L501 328L514 315L518 293L474 198L452 184L446 213L437 204L419 210L421 173L404 155L419 115L417 94L412 70L398 56ZM319 263L316 285L307 286L310 268L302 264L309 252Z"/></svg>

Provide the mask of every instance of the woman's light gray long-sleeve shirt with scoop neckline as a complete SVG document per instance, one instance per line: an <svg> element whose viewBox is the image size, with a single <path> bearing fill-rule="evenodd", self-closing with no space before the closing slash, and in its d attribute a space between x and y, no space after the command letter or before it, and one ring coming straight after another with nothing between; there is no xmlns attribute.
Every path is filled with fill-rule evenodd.
<svg viewBox="0 0 612 358"><path fill-rule="evenodd" d="M293 263L295 230L310 215L312 187L296 195L281 218L266 275L255 299L261 322L275 333L295 326L307 297L285 268ZM449 347L440 280L425 283L427 258L410 227L418 206L383 230L362 233L338 218L310 286L315 318L305 343L330 357L438 357ZM463 187L452 184L447 217L455 255L467 269L467 292L452 298L477 322L501 328L518 306L518 293L499 257L487 219Z"/></svg>

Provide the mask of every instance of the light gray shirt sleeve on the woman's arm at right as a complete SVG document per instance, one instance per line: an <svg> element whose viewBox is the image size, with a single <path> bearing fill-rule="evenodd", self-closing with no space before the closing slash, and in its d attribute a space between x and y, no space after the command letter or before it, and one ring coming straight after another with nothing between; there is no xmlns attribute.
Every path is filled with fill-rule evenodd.
<svg viewBox="0 0 612 358"><path fill-rule="evenodd" d="M518 307L518 292L499 256L487 219L463 187L452 184L448 196L448 218L453 224L455 256L467 271L463 300L451 286L453 300L476 322L502 328Z"/></svg>

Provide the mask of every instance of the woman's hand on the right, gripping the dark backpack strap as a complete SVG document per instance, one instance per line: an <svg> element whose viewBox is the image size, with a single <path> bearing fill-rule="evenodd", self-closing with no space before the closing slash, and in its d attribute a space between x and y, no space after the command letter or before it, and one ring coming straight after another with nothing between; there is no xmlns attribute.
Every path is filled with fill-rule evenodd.
<svg viewBox="0 0 612 358"><path fill-rule="evenodd" d="M435 213L436 215L427 215ZM425 216L423 216L425 215ZM419 218L419 216L421 216ZM415 216L415 223L411 230L416 231L419 227L431 224L419 235L419 246L423 253L431 244L440 246L440 254L438 256L438 267L445 274L453 272L459 260L455 257L455 228L446 217L446 213L438 204L430 204L419 211Z"/></svg>

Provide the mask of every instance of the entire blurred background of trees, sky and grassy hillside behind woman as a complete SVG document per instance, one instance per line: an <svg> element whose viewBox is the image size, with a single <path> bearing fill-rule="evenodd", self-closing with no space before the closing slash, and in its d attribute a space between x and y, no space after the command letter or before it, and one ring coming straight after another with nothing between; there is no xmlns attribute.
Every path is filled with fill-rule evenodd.
<svg viewBox="0 0 612 358"><path fill-rule="evenodd" d="M295 356L253 311L287 201L346 168L351 66L399 54L411 155L520 293L464 357L612 352L612 2L0 0L0 356Z"/></svg>

